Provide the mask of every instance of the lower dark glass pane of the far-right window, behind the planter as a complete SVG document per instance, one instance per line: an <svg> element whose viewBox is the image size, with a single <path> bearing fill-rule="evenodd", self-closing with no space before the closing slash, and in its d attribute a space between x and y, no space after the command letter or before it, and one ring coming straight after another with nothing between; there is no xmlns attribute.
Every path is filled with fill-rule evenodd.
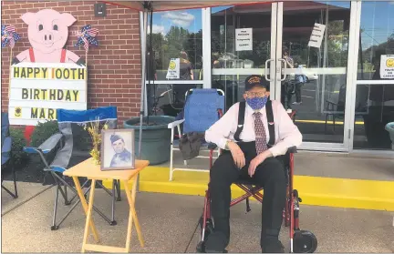
<svg viewBox="0 0 394 254"><path fill-rule="evenodd" d="M358 85L353 146L391 149L385 126L394 122L394 85Z"/></svg>

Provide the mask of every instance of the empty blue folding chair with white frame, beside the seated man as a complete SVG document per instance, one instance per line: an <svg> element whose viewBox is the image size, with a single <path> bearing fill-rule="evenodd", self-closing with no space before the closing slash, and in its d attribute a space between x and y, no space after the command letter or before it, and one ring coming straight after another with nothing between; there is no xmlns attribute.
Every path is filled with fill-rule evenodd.
<svg viewBox="0 0 394 254"><path fill-rule="evenodd" d="M183 133L204 133L208 128L219 120L224 113L224 92L221 89L190 89L185 94L186 103L183 108L183 118L174 121L168 125L171 128L171 157L170 157L170 181L172 180L173 172L181 171L198 171L208 172L209 170L193 169L193 168L173 168L173 152L180 150L179 140L174 140L175 127L178 129L181 137L181 124L183 124ZM211 144L202 143L202 147L210 147ZM219 156L219 148L217 149ZM198 156L203 158L210 158L208 156ZM216 157L213 157L216 158ZM187 165L187 160L183 160L184 165Z"/></svg>

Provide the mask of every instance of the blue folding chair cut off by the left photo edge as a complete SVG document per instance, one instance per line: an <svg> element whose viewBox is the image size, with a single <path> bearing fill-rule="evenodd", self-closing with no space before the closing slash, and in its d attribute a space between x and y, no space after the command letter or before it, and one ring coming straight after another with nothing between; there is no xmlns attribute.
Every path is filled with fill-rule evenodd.
<svg viewBox="0 0 394 254"><path fill-rule="evenodd" d="M14 161L12 160L12 138L9 132L9 121L8 113L2 112L2 188L13 198L17 198L17 188L16 188L16 172L14 167ZM8 167L7 167L8 166ZM5 168L11 168L13 178L14 178L14 193L3 186L3 177L5 174Z"/></svg>

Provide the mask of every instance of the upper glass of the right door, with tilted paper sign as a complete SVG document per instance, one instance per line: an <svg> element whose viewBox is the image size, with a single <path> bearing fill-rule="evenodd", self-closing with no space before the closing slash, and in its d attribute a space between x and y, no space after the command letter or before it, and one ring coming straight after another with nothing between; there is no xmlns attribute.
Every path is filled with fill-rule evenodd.
<svg viewBox="0 0 394 254"><path fill-rule="evenodd" d="M346 67L349 20L350 2L285 2L283 46L308 68ZM320 47L308 46L315 23L327 29Z"/></svg>

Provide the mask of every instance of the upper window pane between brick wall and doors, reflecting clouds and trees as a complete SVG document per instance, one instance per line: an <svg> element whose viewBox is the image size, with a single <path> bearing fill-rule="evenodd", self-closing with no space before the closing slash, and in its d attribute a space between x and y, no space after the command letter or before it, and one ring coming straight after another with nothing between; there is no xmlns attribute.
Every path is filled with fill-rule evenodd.
<svg viewBox="0 0 394 254"><path fill-rule="evenodd" d="M175 80L201 80L202 9L154 13L152 24L150 78L174 80L166 78L170 59L180 58L180 78Z"/></svg>

